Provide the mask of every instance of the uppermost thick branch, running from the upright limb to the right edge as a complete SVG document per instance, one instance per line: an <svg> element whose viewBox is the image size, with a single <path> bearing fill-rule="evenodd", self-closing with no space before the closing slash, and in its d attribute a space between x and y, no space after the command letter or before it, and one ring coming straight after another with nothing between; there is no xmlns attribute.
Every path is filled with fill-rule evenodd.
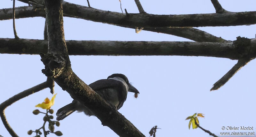
<svg viewBox="0 0 256 137"><path fill-rule="evenodd" d="M224 12L222 14L184 14L155 15L103 11L77 4L63 2L64 14L108 24L119 24L130 27L207 27L207 26L238 26L256 24L256 11ZM44 16L44 14L41 14ZM18 18L18 17L17 17ZM3 20L4 18L0 18Z"/></svg>

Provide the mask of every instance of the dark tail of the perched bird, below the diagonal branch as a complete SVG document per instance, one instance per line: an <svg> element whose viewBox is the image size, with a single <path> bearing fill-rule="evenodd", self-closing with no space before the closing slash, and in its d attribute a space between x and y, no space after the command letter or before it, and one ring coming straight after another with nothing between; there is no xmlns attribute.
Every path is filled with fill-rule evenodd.
<svg viewBox="0 0 256 137"><path fill-rule="evenodd" d="M57 118L56 120L60 121L66 117L68 117L68 115L70 115L71 113L75 112L76 111L76 102L72 102L62 108L60 108L56 115L57 115Z"/></svg>

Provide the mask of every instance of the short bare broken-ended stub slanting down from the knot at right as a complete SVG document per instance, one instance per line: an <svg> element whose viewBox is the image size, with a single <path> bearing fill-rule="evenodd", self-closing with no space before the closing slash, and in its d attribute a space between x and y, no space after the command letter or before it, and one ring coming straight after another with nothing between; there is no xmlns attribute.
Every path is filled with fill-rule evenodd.
<svg viewBox="0 0 256 137"><path fill-rule="evenodd" d="M218 80L216 83L213 84L212 90L217 90L220 87L222 87L228 80L236 74L237 71L239 71L244 65L246 65L248 62L250 62L251 59L239 59L234 65L220 80Z"/></svg>

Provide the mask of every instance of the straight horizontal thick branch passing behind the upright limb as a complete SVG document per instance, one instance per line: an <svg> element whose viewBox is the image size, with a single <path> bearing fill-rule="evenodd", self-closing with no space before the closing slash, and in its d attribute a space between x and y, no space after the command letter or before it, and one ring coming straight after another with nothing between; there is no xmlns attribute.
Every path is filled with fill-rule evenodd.
<svg viewBox="0 0 256 137"><path fill-rule="evenodd" d="M206 56L240 59L235 46L213 42L138 42L138 41L66 41L69 55L178 55ZM47 53L44 40L0 38L0 53L39 54ZM250 49L256 54L256 44ZM252 55L252 56L254 56Z"/></svg>

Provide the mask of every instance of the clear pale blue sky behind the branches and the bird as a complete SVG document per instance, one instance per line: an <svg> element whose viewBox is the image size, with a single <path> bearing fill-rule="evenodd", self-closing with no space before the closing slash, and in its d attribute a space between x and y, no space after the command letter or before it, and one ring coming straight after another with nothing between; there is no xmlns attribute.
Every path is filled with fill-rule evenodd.
<svg viewBox="0 0 256 137"><path fill-rule="evenodd" d="M70 1L71 2L71 1ZM72 1L87 6L86 1ZM215 9L210 0L140 0L144 10L152 14L192 14L213 13ZM220 0L228 11L255 11L255 0ZM120 10L118 0L91 0L94 8ZM16 1L16 6L26 5ZM2 1L0 8L11 8L12 1ZM133 0L122 1L123 10L137 13ZM20 38L43 39L44 18L16 19L16 29ZM256 26L203 27L199 28L227 40L237 36L254 38ZM120 40L120 41L190 41L184 38L116 27L83 19L64 17L66 40ZM0 21L0 37L14 38L12 20ZM194 113L204 113L199 118L200 126L216 135L222 132L222 126L255 126L255 66L252 60L235 74L223 87L210 92L212 85L219 80L237 61L215 57L182 56L70 56L73 71L85 83L106 79L113 73L125 74L139 91L135 99L132 93L119 110L142 133L153 126L156 137L161 136L201 136L208 137L201 129L188 130L188 121ZM44 69L39 55L0 54L0 102L31 88L46 80L41 72ZM84 65L87 64L87 65ZM88 65L90 64L90 65ZM129 65L128 65L129 64ZM72 102L72 98L57 84L56 100L52 109L56 111ZM43 124L43 114L33 115L35 105L51 98L49 89L30 95L12 104L5 110L8 122L20 136L29 136L27 131L35 130ZM195 100L197 99L197 100ZM54 118L56 116L54 115ZM83 113L73 113L60 121L63 136L117 136L110 128L102 126L96 117L87 117ZM233 131L232 131L233 132ZM10 136L2 122L0 135ZM30 135L31 136L31 135ZM49 137L55 136L50 134ZM32 136L31 136L32 137Z"/></svg>

